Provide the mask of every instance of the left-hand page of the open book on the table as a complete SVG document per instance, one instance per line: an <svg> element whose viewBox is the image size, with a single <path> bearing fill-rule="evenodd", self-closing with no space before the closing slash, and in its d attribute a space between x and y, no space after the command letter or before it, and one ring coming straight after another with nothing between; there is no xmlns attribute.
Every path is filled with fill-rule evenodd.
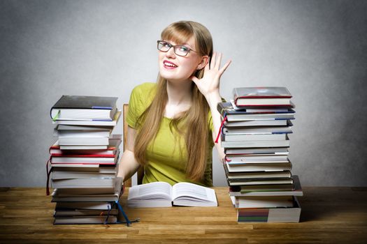
<svg viewBox="0 0 367 244"><path fill-rule="evenodd" d="M166 182L153 182L134 185L129 189L128 199L172 199L172 187Z"/></svg>

